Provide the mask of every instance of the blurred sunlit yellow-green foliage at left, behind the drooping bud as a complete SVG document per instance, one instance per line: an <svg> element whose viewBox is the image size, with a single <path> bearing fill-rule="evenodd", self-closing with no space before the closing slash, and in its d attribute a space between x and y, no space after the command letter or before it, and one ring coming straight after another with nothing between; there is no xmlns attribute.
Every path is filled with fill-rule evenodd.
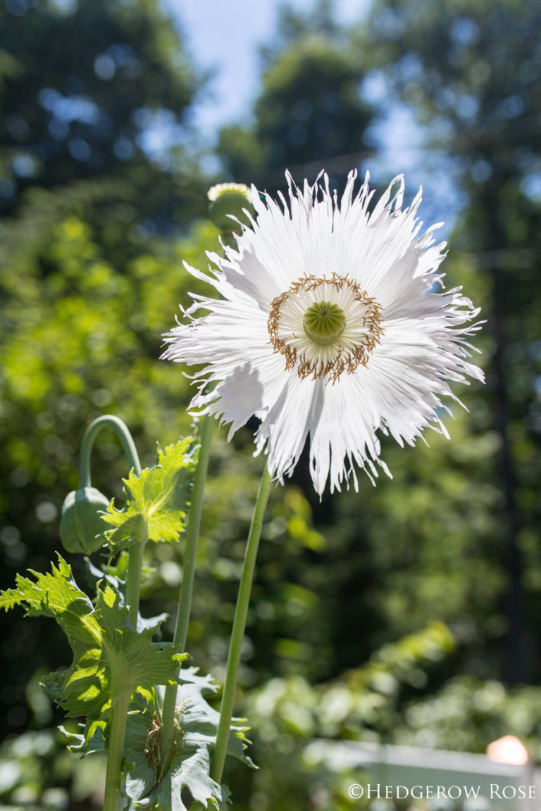
<svg viewBox="0 0 541 811"><path fill-rule="evenodd" d="M209 241L213 236L212 230ZM120 272L92 241L92 228L75 216L48 231L42 250L43 242L39 230L29 232L2 267L8 290L2 303L2 586L11 586L15 570L25 564L43 571L58 548L60 508L67 491L78 486L78 446L92 418L117 411L136 435L162 442L189 431L189 418L181 425L178 410L186 383L157 361L159 335L185 283L174 252L160 260L147 246ZM46 282L42 261L50 268ZM171 302L169 312L161 310L164 301ZM161 320L150 341L157 324L149 326L148 316ZM156 399L149 400L154 385ZM167 436L164 423L170 425ZM153 455L148 440L144 453L147 459ZM114 476L127 470L112 436L95 457L98 486L109 497L122 497ZM19 706L24 680L44 659L45 666L56 667L54 644L41 650L36 626L17 617L5 631L9 705ZM21 667L17 657L27 646L33 653Z"/></svg>

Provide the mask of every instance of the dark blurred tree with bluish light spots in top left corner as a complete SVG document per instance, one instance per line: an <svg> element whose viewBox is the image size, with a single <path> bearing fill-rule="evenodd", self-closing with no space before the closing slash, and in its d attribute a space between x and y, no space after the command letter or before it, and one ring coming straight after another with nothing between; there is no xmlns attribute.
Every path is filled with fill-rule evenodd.
<svg viewBox="0 0 541 811"><path fill-rule="evenodd" d="M187 212L195 164L174 151L199 86L157 0L2 3L0 212L29 187L118 174L140 217Z"/></svg>

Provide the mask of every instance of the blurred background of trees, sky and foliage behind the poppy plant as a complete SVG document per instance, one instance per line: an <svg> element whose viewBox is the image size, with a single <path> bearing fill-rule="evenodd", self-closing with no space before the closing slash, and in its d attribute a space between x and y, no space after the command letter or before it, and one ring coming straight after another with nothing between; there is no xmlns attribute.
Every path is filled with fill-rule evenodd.
<svg viewBox="0 0 541 811"><path fill-rule="evenodd" d="M218 246L208 187L273 193L286 168L341 187L358 167L381 190L403 170L427 225L445 221L448 286L483 307L487 384L457 388L451 441L384 440L393 481L320 501L303 459L273 491L238 697L261 768L226 777L242 811L341 811L361 807L350 775L310 762L314 737L483 752L512 733L538 757L539 3L199 7L0 2L1 585L59 548L92 418L124 419L144 465L191 430L189 382L158 357L198 289L182 260L205 268ZM211 458L188 646L217 680L262 464L252 429L219 432ZM114 436L93 459L120 497ZM147 562L148 616L174 612L182 542ZM69 662L61 633L13 611L1 646L2 802L99 808L101 761L63 749L39 687Z"/></svg>

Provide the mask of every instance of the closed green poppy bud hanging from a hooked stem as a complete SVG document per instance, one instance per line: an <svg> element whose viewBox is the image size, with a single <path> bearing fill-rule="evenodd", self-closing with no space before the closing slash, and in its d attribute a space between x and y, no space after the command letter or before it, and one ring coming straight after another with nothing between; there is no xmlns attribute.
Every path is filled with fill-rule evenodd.
<svg viewBox="0 0 541 811"><path fill-rule="evenodd" d="M107 524L99 514L109 507L109 499L96 487L80 487L68 493L62 504L60 540L68 552L91 555L104 544Z"/></svg>

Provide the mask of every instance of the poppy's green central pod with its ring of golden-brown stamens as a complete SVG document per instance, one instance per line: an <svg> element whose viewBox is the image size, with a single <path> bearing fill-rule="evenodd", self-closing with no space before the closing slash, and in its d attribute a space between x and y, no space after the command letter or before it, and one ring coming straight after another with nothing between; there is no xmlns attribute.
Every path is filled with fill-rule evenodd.
<svg viewBox="0 0 541 811"><path fill-rule="evenodd" d="M381 307L349 277L314 276L295 281L277 296L268 316L268 333L275 352L286 358L286 369L301 378L338 380L367 365L383 336Z"/></svg>

